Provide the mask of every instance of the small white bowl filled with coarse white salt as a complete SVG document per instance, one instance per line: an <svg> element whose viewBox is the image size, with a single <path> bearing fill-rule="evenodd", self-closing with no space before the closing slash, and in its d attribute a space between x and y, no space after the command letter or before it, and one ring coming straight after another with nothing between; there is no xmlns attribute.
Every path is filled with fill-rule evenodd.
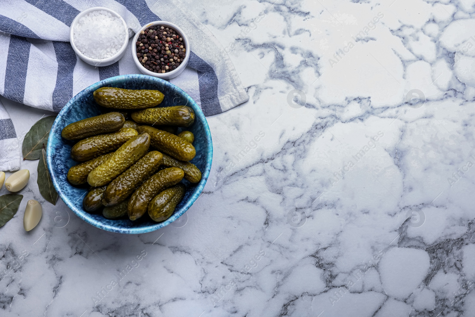
<svg viewBox="0 0 475 317"><path fill-rule="evenodd" d="M122 58L129 43L129 32L117 12L94 7L76 16L69 38L77 56L87 64L108 66Z"/></svg>

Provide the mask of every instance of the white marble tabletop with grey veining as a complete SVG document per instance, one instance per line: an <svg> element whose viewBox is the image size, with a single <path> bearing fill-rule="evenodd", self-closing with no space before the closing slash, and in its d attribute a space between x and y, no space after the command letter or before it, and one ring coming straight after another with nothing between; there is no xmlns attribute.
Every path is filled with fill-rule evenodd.
<svg viewBox="0 0 475 317"><path fill-rule="evenodd" d="M24 232L33 173L0 315L475 316L475 1L185 4L250 95L208 118L204 195L138 236L62 201ZM2 100L19 135L44 115Z"/></svg>

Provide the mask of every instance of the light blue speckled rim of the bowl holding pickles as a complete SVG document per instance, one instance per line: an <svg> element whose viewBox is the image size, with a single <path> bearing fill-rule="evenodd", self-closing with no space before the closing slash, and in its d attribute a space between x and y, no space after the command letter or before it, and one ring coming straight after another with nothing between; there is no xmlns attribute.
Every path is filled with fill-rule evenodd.
<svg viewBox="0 0 475 317"><path fill-rule="evenodd" d="M207 154L207 160L206 160L206 167L205 167L204 171L201 171L201 173L202 173L201 174L201 181L198 183L198 185L196 185L196 187L194 189L195 192L191 195L188 202L186 202L186 204L183 205L180 208L180 210L174 212L173 215L170 218L168 218L166 221L159 222L157 224L153 224L153 225L150 225L150 226L137 227L137 228L120 228L120 227L116 227L116 226L113 226L113 225L104 224L101 221L98 221L98 220L90 217L91 214L89 214L88 212L76 208L76 206L74 206L74 204L71 202L71 200L66 196L65 192L63 192L63 190L60 188L58 180L57 180L57 175L54 173L54 170L52 168L52 166L53 166L52 159L53 158L52 158L52 154L51 154L52 151L54 150L53 149L53 143L57 143L57 142L49 142L49 140L48 140L48 143L47 143L47 166L48 166L49 174L51 175L51 180L53 181L53 185L54 185L56 191L58 192L59 197L61 197L63 202L65 202L66 205L69 207L69 209L71 209L79 218L81 218L82 220L84 220L85 222L87 222L89 224L92 224L93 226L95 226L97 228L100 228L100 229L103 229L103 230L106 230L106 231L117 232L117 233L127 233L127 234L140 234L140 233L146 233L146 232L151 232L151 231L161 229L161 228L169 225L173 221L177 220L178 218L180 218L180 216L183 215L183 213L185 213L185 211L187 211L191 207L191 205L198 199L199 195L203 191L203 189L205 187L205 184L208 180L209 172L211 171L211 162L212 162L212 159L213 159L213 144L212 144L212 140L211 140L211 132L209 131L209 125L208 125L208 121L206 120L206 117L203 115L203 112L201 111L201 108L199 108L199 106L196 104L196 102L193 100L193 98L191 98L187 93L185 93L183 90L181 90L178 86L175 86L175 85L171 84L170 82L168 82L164 79L158 78L158 77L152 77L152 76L141 75L141 74L129 74L129 75L121 75L121 76L110 77L110 78L101 80L101 81L85 88L84 90L79 92L76 96L74 96L71 100L69 100L69 102L66 104L66 106L64 106L64 108L61 109L61 111L57 115L57 117L56 117L56 119L53 123L53 126L51 127L51 131L50 131L49 135L50 135L50 137L55 135L54 131L56 131L56 129L58 129L59 121L62 119L63 115L67 112L67 110L70 107L73 107L73 106L76 105L75 104L76 99L78 99L80 96L83 96L83 95L89 94L89 93L92 94L96 89L100 88L100 86L104 86L103 84L108 84L110 82L114 82L114 81L117 81L117 80L128 79L128 78L141 78L141 79L150 80L152 82L160 82L162 85L170 86L173 89L179 90L184 96L187 96L189 98L189 103L187 104L187 106L191 106L193 108L193 110L195 112L195 115L196 115L196 118L199 119L204 125L204 130L205 130L205 133L206 133L206 140L208 142L208 149L207 149L208 154ZM76 105L76 106L78 106L78 105ZM205 149L203 149L203 150L205 150Z"/></svg>

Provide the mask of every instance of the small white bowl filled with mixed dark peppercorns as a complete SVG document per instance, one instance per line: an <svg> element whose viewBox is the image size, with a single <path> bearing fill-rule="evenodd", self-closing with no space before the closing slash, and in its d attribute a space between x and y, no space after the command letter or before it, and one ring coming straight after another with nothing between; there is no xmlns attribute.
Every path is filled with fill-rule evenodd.
<svg viewBox="0 0 475 317"><path fill-rule="evenodd" d="M142 74L171 79L185 69L190 59L190 42L177 25L155 21L135 34L132 55Z"/></svg>

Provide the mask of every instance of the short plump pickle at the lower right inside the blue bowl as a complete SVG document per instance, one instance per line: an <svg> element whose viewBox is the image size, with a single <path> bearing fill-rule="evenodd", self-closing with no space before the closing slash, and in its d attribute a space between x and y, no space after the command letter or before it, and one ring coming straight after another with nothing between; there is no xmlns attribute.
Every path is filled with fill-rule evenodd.
<svg viewBox="0 0 475 317"><path fill-rule="evenodd" d="M179 183L155 196L149 203L148 213L153 221L165 221L173 214L185 195L185 185Z"/></svg>

